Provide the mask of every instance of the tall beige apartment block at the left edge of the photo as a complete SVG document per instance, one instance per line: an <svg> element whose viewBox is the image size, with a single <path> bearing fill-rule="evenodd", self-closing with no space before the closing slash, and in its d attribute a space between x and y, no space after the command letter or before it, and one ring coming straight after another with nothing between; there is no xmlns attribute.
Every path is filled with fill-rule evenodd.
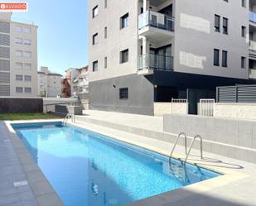
<svg viewBox="0 0 256 206"><path fill-rule="evenodd" d="M0 96L37 96L37 26L0 13Z"/></svg>

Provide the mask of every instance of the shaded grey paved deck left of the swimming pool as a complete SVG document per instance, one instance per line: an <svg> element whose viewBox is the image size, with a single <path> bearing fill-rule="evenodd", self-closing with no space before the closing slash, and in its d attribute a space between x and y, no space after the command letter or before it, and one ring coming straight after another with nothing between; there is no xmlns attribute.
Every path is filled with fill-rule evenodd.
<svg viewBox="0 0 256 206"><path fill-rule="evenodd" d="M0 121L0 206L37 205L64 204L17 134Z"/></svg>

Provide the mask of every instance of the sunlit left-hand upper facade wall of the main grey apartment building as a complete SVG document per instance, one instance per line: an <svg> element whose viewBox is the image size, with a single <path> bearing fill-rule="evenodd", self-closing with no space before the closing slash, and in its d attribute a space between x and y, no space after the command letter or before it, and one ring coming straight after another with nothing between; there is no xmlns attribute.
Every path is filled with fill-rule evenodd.
<svg viewBox="0 0 256 206"><path fill-rule="evenodd" d="M92 18L92 9L98 5L99 15ZM120 30L120 17L129 13L129 26ZM108 38L104 39L104 27L108 27ZM99 43L92 45L94 33L99 35ZM129 60L120 65L119 53L129 50ZM104 69L104 57L108 58L108 68ZM138 56L138 0L110 0L108 7L104 1L89 1L89 81L109 79L137 73ZM93 62L98 60L99 71L92 72Z"/></svg>

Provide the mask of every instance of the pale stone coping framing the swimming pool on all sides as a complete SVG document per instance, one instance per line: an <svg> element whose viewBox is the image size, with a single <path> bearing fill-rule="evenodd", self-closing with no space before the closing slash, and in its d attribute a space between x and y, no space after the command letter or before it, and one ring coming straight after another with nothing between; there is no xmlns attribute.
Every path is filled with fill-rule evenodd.
<svg viewBox="0 0 256 206"><path fill-rule="evenodd" d="M6 127L7 127L7 132L9 134L9 137L10 137L11 141L12 141L13 148L17 153L18 159L21 162L21 165L22 165L22 168L23 168L25 174L29 176L29 178L27 178L28 179L27 180L28 184L31 185L31 190L35 194L36 201L38 203L40 203L40 205L43 205L43 206L45 206L45 205L47 205L47 206L51 206L51 205L52 206L57 206L57 205L64 205L64 204L62 203L58 194L56 194L56 191L52 188L50 182L46 179L45 175L42 173L39 166L36 165L36 162L34 160L32 160L32 158L29 154L29 151L27 151L26 146L23 145L21 139L17 136L17 133L14 131L11 124L13 124L13 123L31 123L31 122L61 122L61 121L62 121L61 119L60 120L58 120L58 119L53 120L52 119L52 120L32 120L32 121L31 120L29 120L29 121L5 121L5 124L6 124ZM114 140L118 140L118 141L122 141L122 142L125 142L125 143L128 143L128 144L132 144L133 146L142 147L142 148L147 149L149 151L157 152L157 153L159 153L163 156L169 156L169 152L164 151L164 150L158 148L157 146L149 146L147 144L142 144L139 141L129 140L128 138L118 137L118 135L115 136L113 134L110 137L107 132L100 132L99 130L92 129L92 128L88 129L88 128L86 128L83 125L78 124L78 123L73 123L73 122L70 123L69 122L69 124L73 125L75 127L80 127L82 129L87 129L91 132L97 132L97 133L102 134L106 137L109 137L110 139L112 138ZM179 153L174 152L173 153L173 158L175 158L175 159L179 159L179 158L184 159L184 156L179 154ZM221 185L229 184L229 183L244 179L247 176L249 176L248 174L238 172L238 171L234 171L234 170L227 169L227 168L215 168L215 166L200 165L200 161L196 161L196 160L193 160L193 161L188 160L187 162L191 163L191 164L196 163L197 165L199 165L200 167L205 168L206 170L213 170L213 171L218 172L218 173L223 174L223 175L220 175L220 176L215 177L215 178L210 179L210 180L204 180L202 182L198 182L198 183L195 183L195 184L190 184L190 185L187 185L185 187L182 187L181 189L171 190L171 191L169 191L167 193L164 193L164 194L158 194L158 195L149 197L147 199L138 200L138 201L133 202L133 203L128 204L128 205L133 205L133 204L134 205L150 205L148 200L152 201L152 203L153 203L154 200L157 200L157 199L159 200L159 197L162 197L162 196L168 197L170 194L173 194L174 191L179 192L179 191L184 190L184 189L186 189L186 191L191 191L193 193L201 194L201 193L205 193L209 190L215 189L217 187L220 187ZM34 170L30 170L28 168L29 165L34 168L34 170L36 171L36 175L31 175L31 171L34 171ZM46 189L45 189L44 194L37 194L38 191L35 191L35 189L34 189L35 188L34 184L36 182L42 182L43 184L46 185ZM182 191L181 191L181 193L182 193ZM54 202L54 203L50 202L50 204L49 204L49 201L52 201L52 200L50 200L49 194L51 194L51 198L56 202ZM179 198L182 199L184 197L182 195L179 195L179 197L177 197L176 199L170 199L170 204L178 201ZM138 203L140 203L140 204L138 204Z"/></svg>

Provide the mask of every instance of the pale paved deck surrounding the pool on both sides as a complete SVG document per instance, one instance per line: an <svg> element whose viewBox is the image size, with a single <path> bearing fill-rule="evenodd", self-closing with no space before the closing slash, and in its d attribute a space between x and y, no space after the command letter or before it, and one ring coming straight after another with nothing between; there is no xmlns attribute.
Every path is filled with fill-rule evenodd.
<svg viewBox="0 0 256 206"><path fill-rule="evenodd" d="M156 134L162 132L162 117L86 111L85 116L77 117L77 121L70 124L99 132L119 141L142 146L166 156L169 156L172 148L172 144L167 141L148 137L150 136L148 132L156 132ZM4 169L5 174L0 173L0 206L63 205L12 128L0 122L0 134L0 171L7 167ZM256 206L256 165L210 152L204 152L204 160L200 160L198 154L199 151L193 150L189 161L225 175L129 205ZM184 146L177 146L173 156L184 159ZM13 171L15 171L14 174L20 174L19 178L12 179L12 169L8 169L11 165L17 167ZM27 184L25 184L26 181ZM22 189L26 189L27 193L22 194Z"/></svg>

